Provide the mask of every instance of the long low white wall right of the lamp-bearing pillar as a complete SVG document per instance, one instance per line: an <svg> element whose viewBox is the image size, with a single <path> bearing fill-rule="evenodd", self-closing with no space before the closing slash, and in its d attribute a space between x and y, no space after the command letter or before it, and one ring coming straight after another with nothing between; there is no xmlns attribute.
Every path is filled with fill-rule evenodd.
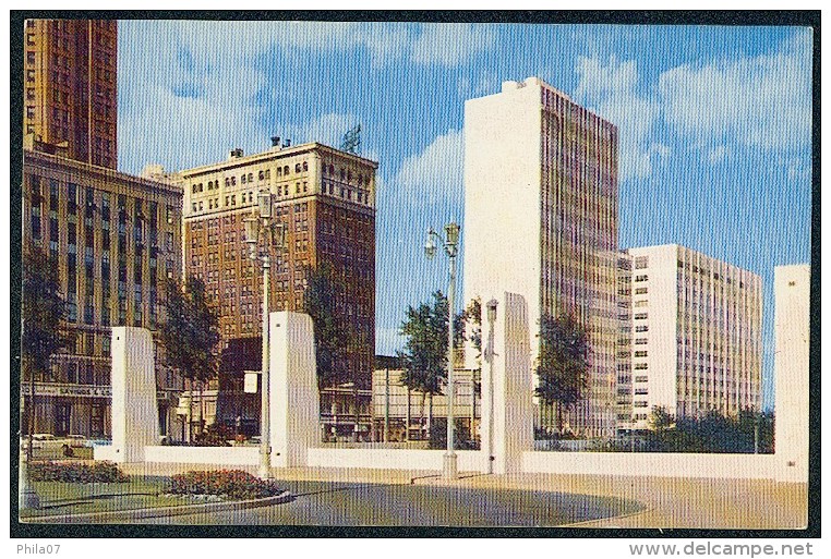
<svg viewBox="0 0 831 559"><path fill-rule="evenodd" d="M523 452L522 471L570 475L778 478L773 454Z"/></svg>

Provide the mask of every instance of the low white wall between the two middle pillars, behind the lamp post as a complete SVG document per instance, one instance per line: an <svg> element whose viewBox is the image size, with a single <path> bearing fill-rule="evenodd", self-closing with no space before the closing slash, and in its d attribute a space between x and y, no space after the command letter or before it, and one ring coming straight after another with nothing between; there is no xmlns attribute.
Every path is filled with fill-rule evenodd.
<svg viewBox="0 0 831 559"><path fill-rule="evenodd" d="M309 466L365 467L370 470L442 471L444 450L310 448ZM481 472L484 457L478 450L457 450L459 472Z"/></svg>

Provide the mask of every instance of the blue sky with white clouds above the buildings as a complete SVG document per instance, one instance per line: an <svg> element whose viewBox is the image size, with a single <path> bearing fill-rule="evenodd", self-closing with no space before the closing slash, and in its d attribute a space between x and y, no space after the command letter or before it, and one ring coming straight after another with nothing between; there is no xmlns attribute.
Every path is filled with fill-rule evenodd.
<svg viewBox="0 0 831 559"><path fill-rule="evenodd" d="M429 227L465 232L466 99L540 76L618 126L619 246L677 243L762 278L773 403L773 267L810 262L810 28L119 22L119 168L177 171L335 147L361 124L380 162L376 353L408 305L447 290ZM463 275L458 260L458 290Z"/></svg>

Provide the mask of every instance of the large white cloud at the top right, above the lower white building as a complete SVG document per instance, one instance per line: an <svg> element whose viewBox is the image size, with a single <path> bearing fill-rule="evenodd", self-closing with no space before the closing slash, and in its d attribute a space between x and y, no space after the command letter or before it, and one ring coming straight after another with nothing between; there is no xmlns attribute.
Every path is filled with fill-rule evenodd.
<svg viewBox="0 0 831 559"><path fill-rule="evenodd" d="M708 64L684 64L661 74L664 118L678 133L710 149L727 141L763 149L810 142L810 33L779 52Z"/></svg>

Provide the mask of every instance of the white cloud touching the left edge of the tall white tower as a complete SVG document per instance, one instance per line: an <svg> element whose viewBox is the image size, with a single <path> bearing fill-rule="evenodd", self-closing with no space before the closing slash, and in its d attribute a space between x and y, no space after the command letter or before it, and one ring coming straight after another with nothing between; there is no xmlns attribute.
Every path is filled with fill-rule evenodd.
<svg viewBox="0 0 831 559"><path fill-rule="evenodd" d="M388 195L410 207L446 205L460 208L463 200L463 153L461 130L449 130L437 136L423 151L404 160L389 181Z"/></svg>

